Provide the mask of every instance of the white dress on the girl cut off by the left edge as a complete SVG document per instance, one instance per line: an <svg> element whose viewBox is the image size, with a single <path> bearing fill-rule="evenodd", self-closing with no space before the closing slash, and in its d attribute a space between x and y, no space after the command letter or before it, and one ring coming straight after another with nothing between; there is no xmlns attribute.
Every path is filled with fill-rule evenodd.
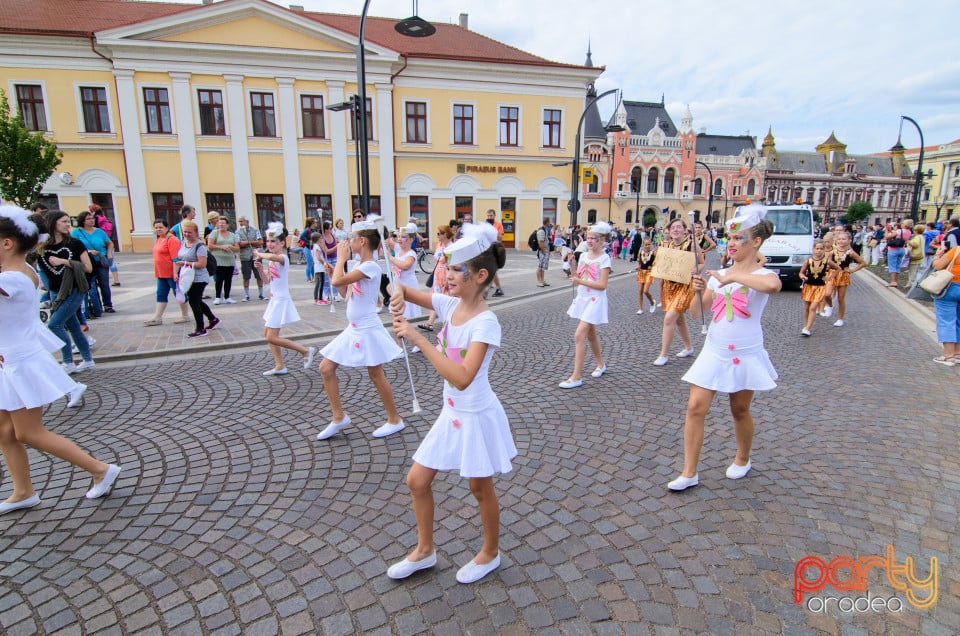
<svg viewBox="0 0 960 636"><path fill-rule="evenodd" d="M0 273L0 410L33 409L77 387L50 355L63 341L40 322L40 296L23 272Z"/></svg>

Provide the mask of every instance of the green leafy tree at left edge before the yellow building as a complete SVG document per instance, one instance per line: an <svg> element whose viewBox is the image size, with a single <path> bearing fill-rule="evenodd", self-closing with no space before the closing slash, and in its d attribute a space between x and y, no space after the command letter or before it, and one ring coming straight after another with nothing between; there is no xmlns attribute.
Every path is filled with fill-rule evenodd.
<svg viewBox="0 0 960 636"><path fill-rule="evenodd" d="M57 144L24 126L20 113L10 112L7 94L0 89L0 196L26 208L61 161Z"/></svg>

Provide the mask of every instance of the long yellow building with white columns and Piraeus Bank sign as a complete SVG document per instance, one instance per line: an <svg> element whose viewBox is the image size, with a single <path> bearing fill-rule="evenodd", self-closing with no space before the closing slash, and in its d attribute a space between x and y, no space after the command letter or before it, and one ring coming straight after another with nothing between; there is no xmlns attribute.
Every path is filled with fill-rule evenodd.
<svg viewBox="0 0 960 636"><path fill-rule="evenodd" d="M10 0L0 87L63 164L44 200L98 203L122 249L145 251L183 203L257 225L344 219L356 206L358 16L266 0L203 4ZM518 248L569 199L585 88L601 69L551 62L439 24L405 38L366 21L371 209L432 230L503 212ZM512 221L512 223L511 223Z"/></svg>

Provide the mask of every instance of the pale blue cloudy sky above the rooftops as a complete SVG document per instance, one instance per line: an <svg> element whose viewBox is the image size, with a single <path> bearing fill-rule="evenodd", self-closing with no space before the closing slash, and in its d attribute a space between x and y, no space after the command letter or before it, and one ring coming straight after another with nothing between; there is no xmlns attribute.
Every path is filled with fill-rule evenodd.
<svg viewBox="0 0 960 636"><path fill-rule="evenodd" d="M351 13L362 0L292 0ZM888 150L900 115L927 147L960 138L956 0L421 0L421 17L456 23L555 62L606 70L597 90L659 101L679 125L810 150L831 132L851 154ZM404 18L410 0L373 0L369 15ZM601 112L608 115L613 99ZM903 123L902 143L920 145Z"/></svg>

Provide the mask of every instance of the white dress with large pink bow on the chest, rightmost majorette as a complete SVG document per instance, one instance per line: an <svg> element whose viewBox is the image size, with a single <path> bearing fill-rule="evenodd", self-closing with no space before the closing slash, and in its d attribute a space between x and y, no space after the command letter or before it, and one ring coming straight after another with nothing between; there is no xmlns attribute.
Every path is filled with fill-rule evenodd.
<svg viewBox="0 0 960 636"><path fill-rule="evenodd" d="M720 270L721 273L726 270ZM753 272L776 276L766 268ZM707 287L715 296L712 320L703 350L683 380L711 391L769 391L777 387L777 371L763 348L760 318L769 294L740 283L720 286L711 277Z"/></svg>

